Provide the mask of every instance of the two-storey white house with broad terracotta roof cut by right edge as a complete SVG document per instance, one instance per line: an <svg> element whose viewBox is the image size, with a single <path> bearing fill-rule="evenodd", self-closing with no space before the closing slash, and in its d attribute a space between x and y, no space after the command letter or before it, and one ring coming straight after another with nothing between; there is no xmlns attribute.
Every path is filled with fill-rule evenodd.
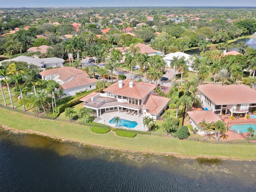
<svg viewBox="0 0 256 192"><path fill-rule="evenodd" d="M245 114L256 109L256 90L240 85L204 84L198 87L202 107L220 114Z"/></svg>

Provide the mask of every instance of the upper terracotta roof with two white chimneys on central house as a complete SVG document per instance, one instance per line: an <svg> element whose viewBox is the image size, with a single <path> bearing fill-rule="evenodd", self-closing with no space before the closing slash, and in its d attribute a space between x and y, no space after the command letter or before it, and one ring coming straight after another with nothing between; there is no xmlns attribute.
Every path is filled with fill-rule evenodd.
<svg viewBox="0 0 256 192"><path fill-rule="evenodd" d="M122 95L132 98L142 99L145 98L154 88L156 88L155 84L146 83L146 82L134 82L134 86L132 88L129 87L129 82L134 82L132 79L123 80L123 87L119 88L119 82L109 86L104 89L104 92L111 92L116 95Z"/></svg>

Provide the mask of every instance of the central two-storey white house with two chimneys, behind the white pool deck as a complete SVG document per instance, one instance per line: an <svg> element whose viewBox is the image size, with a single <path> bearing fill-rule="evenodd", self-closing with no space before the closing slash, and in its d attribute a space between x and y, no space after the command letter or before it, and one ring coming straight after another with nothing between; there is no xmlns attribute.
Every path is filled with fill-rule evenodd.
<svg viewBox="0 0 256 192"><path fill-rule="evenodd" d="M104 93L93 92L80 99L84 107L96 110L97 117L104 112L130 110L137 116L148 115L157 119L168 106L170 98L154 95L155 84L119 80L104 89Z"/></svg>

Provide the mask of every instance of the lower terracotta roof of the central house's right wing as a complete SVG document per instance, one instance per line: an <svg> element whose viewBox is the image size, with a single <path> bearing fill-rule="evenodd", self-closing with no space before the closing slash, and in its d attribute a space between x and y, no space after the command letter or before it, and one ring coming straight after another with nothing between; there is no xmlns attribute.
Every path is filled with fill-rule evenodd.
<svg viewBox="0 0 256 192"><path fill-rule="evenodd" d="M170 98L167 97L148 95L144 101L143 108L149 109L148 113L158 115L162 112L169 100Z"/></svg>

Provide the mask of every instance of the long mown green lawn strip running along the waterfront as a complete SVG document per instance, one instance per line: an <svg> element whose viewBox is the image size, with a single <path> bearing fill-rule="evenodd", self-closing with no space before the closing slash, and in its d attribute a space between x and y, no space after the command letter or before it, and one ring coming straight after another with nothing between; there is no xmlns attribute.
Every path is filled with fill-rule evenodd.
<svg viewBox="0 0 256 192"><path fill-rule="evenodd" d="M76 140L87 144L139 150L144 152L166 152L179 156L207 156L208 158L255 159L256 145L208 144L189 140L178 140L159 136L138 134L135 138L116 137L113 133L93 134L90 127L27 116L0 108L0 123L17 130L32 130L59 138ZM3 115L4 114L4 115Z"/></svg>

